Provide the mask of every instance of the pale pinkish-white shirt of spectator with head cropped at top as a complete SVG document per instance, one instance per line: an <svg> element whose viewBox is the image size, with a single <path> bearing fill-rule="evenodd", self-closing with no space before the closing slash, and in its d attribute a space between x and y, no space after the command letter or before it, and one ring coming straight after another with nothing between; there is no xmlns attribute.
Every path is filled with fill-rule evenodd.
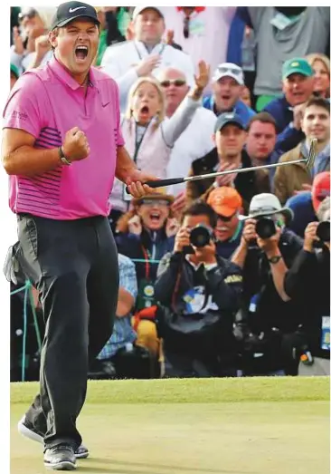
<svg viewBox="0 0 331 474"><path fill-rule="evenodd" d="M196 70L203 59L215 71L220 63L226 62L228 37L236 6L198 7L190 15L189 35L184 37L184 12L176 6L161 6L165 16L165 27L174 31L174 42L180 44L184 53L190 55ZM178 68L179 69L179 68Z"/></svg>

